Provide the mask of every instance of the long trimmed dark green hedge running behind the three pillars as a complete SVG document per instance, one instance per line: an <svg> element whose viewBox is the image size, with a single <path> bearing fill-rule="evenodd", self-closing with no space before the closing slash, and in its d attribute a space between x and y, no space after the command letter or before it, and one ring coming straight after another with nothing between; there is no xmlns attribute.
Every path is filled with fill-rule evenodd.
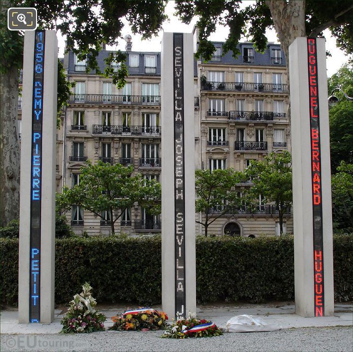
<svg viewBox="0 0 353 352"><path fill-rule="evenodd" d="M353 236L334 236L336 301L353 300ZM16 304L18 239L0 238L1 304ZM293 236L198 237L197 299L294 299ZM86 281L99 302L161 302L161 237L56 239L55 301L68 303Z"/></svg>

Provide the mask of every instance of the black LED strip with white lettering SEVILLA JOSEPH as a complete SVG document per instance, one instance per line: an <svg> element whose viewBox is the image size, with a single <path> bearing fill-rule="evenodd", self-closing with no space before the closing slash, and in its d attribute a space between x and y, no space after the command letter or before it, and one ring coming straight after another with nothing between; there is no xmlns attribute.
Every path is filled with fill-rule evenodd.
<svg viewBox="0 0 353 352"><path fill-rule="evenodd" d="M175 312L185 318L185 186L183 34L173 34Z"/></svg>

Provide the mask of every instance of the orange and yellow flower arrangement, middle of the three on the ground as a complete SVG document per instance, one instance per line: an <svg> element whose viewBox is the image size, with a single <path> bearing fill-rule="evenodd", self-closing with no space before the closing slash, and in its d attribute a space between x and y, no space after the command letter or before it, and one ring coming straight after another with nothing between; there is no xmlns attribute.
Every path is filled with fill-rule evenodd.
<svg viewBox="0 0 353 352"><path fill-rule="evenodd" d="M109 330L159 330L167 329L168 316L163 311L153 308L139 308L128 310L120 316L113 316L114 325Z"/></svg>

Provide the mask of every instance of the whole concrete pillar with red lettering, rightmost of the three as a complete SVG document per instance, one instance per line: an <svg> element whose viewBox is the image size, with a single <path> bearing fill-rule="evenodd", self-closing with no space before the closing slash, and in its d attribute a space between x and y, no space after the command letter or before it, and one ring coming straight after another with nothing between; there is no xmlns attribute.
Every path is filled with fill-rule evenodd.
<svg viewBox="0 0 353 352"><path fill-rule="evenodd" d="M334 313L325 39L289 48L296 313Z"/></svg>

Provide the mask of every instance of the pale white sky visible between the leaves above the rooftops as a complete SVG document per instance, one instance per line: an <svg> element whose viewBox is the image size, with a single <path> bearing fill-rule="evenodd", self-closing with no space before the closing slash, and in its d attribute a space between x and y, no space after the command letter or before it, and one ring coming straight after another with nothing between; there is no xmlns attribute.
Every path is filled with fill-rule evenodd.
<svg viewBox="0 0 353 352"><path fill-rule="evenodd" d="M196 23L194 19L190 24L182 23L176 16L174 16L174 1L169 1L166 7L166 13L168 14L169 21L165 22L163 25L163 31L165 32L192 32L192 28ZM246 4L248 5L248 4ZM141 40L139 34L133 34L131 28L127 24L126 20L123 20L125 23L124 28L121 33L124 37L126 34L131 34L132 36L132 50L133 51L161 51L161 41L163 36L163 31L160 31L157 37L152 38L151 40ZM223 42L228 36L228 27L217 26L217 29L214 33L211 34L210 40L215 42ZM338 69L348 61L348 56L344 54L342 50L336 47L336 40L331 37L330 31L327 29L324 31L326 38L326 50L330 51L332 57L327 57L327 76L330 77L338 71ZM275 30L267 30L266 36L269 42L279 43ZM246 41L245 38L242 38L241 41ZM59 42L59 57L63 57L64 53L64 38L58 33L58 42ZM125 50L125 41L120 40L120 43L116 47L107 46L108 50Z"/></svg>

